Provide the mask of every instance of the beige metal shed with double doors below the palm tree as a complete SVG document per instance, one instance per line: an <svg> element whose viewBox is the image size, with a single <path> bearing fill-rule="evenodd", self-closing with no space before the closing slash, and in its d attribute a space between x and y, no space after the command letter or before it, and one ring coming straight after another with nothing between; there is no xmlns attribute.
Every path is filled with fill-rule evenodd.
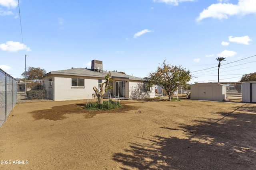
<svg viewBox="0 0 256 170"><path fill-rule="evenodd" d="M226 86L220 83L197 83L190 86L190 99L223 101L226 99Z"/></svg>

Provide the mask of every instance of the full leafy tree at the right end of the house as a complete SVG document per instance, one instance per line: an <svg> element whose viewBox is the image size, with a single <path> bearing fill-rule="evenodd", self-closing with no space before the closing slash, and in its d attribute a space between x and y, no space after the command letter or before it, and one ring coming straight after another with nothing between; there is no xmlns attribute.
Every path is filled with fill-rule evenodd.
<svg viewBox="0 0 256 170"><path fill-rule="evenodd" d="M149 73L148 76L149 86L161 86L167 93L170 93L171 98L179 86L188 86L188 81L192 78L190 71L186 71L186 68L166 64L165 61L161 66L158 66L155 72Z"/></svg>

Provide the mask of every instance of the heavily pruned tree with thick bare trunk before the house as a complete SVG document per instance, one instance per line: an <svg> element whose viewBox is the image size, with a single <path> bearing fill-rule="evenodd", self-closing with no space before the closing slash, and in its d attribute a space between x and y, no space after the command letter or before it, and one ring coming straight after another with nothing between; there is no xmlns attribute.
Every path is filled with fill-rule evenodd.
<svg viewBox="0 0 256 170"><path fill-rule="evenodd" d="M108 90L108 89L112 89L112 86L110 86L110 82L112 82L112 78L111 78L111 72L109 71L109 74L107 74L105 76L105 82L100 84L100 92L99 90L94 86L93 87L93 90L94 92L96 93L97 97L98 97L98 104L103 104L103 96L105 94L105 92ZM104 90L105 88L105 90Z"/></svg>

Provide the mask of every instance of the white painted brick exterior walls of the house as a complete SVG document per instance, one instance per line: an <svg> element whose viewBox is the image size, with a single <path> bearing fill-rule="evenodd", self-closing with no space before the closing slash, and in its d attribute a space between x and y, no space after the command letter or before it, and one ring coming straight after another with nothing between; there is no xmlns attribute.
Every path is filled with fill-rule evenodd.
<svg viewBox="0 0 256 170"><path fill-rule="evenodd" d="M42 78L42 80L49 80L52 78L54 81L54 100L65 101L65 100L84 100L91 99L92 94L95 94L93 87L98 88L98 78L83 77L83 76L67 76L67 75L50 75ZM71 87L72 78L84 78L84 88L73 88ZM115 82L124 80L125 81L125 98L150 98L155 96L155 87L150 88L150 92L144 92L143 82L131 81L128 79L114 78L112 82L113 90L107 90L105 97L108 97L109 92L115 95ZM102 82L105 80L102 79ZM127 82L126 82L127 81Z"/></svg>

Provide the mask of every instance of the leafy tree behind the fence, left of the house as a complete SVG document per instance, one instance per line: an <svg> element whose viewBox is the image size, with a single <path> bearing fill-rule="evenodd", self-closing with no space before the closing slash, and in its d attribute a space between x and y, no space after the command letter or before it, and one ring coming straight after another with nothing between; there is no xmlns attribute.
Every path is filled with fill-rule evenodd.
<svg viewBox="0 0 256 170"><path fill-rule="evenodd" d="M46 74L46 70L40 67L29 67L26 70L26 80L38 80L38 77ZM21 74L25 78L25 72Z"/></svg>

